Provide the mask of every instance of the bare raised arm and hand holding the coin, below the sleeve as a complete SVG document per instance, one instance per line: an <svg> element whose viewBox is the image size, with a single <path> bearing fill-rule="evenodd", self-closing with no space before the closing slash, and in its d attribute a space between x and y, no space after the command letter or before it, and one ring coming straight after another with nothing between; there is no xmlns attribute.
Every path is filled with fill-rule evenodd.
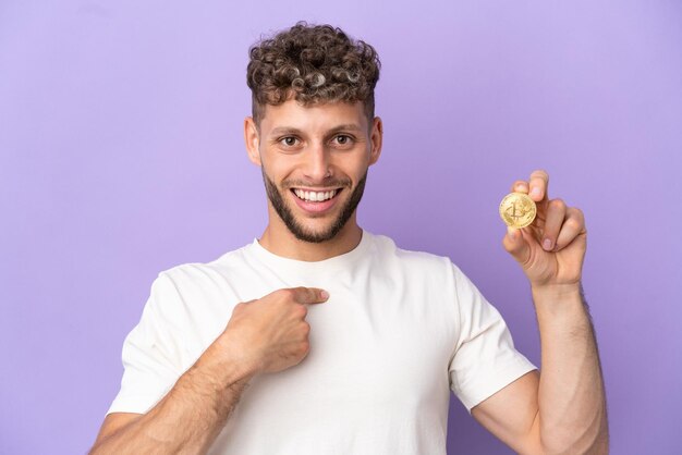
<svg viewBox="0 0 682 455"><path fill-rule="evenodd" d="M609 435L599 355L582 296L587 246L583 212L549 199L549 175L538 170L511 190L529 194L537 218L508 229L504 249L531 283L541 373L533 371L472 409L492 434L519 453L606 454Z"/></svg>

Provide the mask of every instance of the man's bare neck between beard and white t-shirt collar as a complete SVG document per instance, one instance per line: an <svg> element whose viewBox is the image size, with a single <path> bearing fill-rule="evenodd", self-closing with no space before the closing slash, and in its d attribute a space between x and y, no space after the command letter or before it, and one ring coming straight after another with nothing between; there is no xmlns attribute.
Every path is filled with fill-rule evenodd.
<svg viewBox="0 0 682 455"><path fill-rule="evenodd" d="M353 213L343 229L327 242L300 241L283 223L269 222L258 243L277 256L303 261L320 261L353 250L360 244L362 235L363 231L357 225L355 213Z"/></svg>

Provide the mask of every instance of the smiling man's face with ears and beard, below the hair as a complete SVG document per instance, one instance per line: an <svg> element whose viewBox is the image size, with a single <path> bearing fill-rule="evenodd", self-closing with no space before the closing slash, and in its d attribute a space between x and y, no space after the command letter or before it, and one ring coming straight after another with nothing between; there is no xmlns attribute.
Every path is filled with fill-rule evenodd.
<svg viewBox="0 0 682 455"><path fill-rule="evenodd" d="M249 158L261 167L270 223L320 243L355 222L367 169L381 149L381 121L361 102L266 106L259 131L245 122Z"/></svg>

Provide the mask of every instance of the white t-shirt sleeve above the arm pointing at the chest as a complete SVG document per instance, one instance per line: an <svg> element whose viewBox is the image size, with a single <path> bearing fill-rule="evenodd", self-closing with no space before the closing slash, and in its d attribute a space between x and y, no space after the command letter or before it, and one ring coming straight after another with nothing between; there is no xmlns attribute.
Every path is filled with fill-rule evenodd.
<svg viewBox="0 0 682 455"><path fill-rule="evenodd" d="M182 374L179 329L166 318L176 298L173 282L160 273L151 284L139 322L123 343L121 390L107 414L148 411Z"/></svg>

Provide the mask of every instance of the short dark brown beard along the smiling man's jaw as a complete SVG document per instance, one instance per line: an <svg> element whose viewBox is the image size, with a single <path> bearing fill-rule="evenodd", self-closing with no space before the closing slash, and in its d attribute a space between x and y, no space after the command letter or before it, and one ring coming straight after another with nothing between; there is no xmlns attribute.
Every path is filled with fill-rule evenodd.
<svg viewBox="0 0 682 455"><path fill-rule="evenodd" d="M333 222L321 232L314 232L303 225L296 218L294 217L291 208L284 202L284 198L282 197L282 193L277 187L275 182L270 180L265 173L265 169L260 168L263 172L263 181L265 183L265 190L268 195L268 199L272 204L275 211L282 219L287 229L300 241L308 242L308 243L322 243L332 239L348 223L348 221L355 212L357 205L363 198L363 193L365 192L365 182L367 181L367 171L357 183L355 189L351 194L351 197L345 202L345 205L341 208L339 216L333 220ZM343 187L343 189L351 187L350 181L339 181L339 182L330 182L328 186L334 187ZM288 186L284 190L290 190ZM343 190L342 189L342 190ZM297 196L296 196L297 197Z"/></svg>

